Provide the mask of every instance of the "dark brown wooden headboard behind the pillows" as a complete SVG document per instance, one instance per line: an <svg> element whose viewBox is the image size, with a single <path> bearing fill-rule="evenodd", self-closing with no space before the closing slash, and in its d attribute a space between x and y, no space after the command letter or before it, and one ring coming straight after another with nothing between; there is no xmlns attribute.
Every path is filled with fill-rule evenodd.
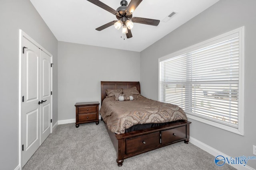
<svg viewBox="0 0 256 170"><path fill-rule="evenodd" d="M106 89L118 89L118 88L132 88L136 86L140 92L140 82L100 82L101 85L101 103L106 98Z"/></svg>

